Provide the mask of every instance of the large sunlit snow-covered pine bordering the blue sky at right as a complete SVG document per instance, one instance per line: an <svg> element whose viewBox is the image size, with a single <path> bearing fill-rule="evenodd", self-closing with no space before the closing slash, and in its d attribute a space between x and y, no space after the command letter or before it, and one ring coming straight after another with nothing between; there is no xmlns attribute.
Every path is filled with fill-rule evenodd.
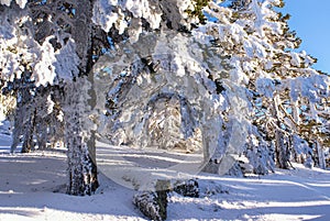
<svg viewBox="0 0 330 221"><path fill-rule="evenodd" d="M221 54L228 55L229 64L233 67L231 78L248 88L246 95L252 108L251 126L258 129L249 130L256 133L250 136L257 137L258 143L268 144L268 148L260 150L255 146L256 150L251 150L251 153L267 156L272 154L270 148L275 146L277 165L288 168L287 137L298 133L297 128L292 126L296 122L290 122L295 112L290 110L297 108L295 103L298 97L315 100L311 99L311 93L315 93L318 95L316 100L323 99L323 95L329 92L329 78L310 67L315 62L312 57L305 52L297 52L300 40L288 29L286 21L289 16L275 11L276 7L283 5L280 0L233 0L221 4L211 2L206 12L213 23L200 29L206 30L205 33L212 38ZM301 84L314 92L308 93L302 87L297 87ZM323 95L317 92L320 88ZM299 96L294 97L295 92ZM290 103L286 108L283 106L284 100ZM249 156L252 159L252 155ZM260 157L261 161L263 158L270 157ZM253 166L256 167L256 164Z"/></svg>

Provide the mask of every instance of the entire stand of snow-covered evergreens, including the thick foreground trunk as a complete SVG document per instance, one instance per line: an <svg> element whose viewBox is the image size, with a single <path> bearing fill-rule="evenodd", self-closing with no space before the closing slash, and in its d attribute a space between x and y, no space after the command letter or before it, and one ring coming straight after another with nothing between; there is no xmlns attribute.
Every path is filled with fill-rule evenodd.
<svg viewBox="0 0 330 221"><path fill-rule="evenodd" d="M67 192L81 196L99 185L97 136L202 151L219 174L326 168L329 76L299 51L283 0L136 2L0 1L12 152L64 141Z"/></svg>

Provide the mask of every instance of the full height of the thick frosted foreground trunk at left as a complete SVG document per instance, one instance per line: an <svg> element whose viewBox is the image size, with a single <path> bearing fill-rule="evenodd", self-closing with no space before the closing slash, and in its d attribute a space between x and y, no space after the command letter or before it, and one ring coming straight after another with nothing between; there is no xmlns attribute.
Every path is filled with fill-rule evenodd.
<svg viewBox="0 0 330 221"><path fill-rule="evenodd" d="M65 142L68 148L69 195L90 195L97 179L95 126L89 120L92 107L92 1L77 0L72 36L80 58L80 74L65 87Z"/></svg>

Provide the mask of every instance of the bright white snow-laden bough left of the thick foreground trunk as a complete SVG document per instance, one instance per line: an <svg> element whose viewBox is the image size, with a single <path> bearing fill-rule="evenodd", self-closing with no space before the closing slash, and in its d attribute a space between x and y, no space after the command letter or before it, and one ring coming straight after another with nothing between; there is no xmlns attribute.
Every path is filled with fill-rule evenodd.
<svg viewBox="0 0 330 221"><path fill-rule="evenodd" d="M40 45L29 35L31 33L21 30L25 22L31 22L25 11L16 13L13 15L6 10L0 18L0 66L3 80L21 78L26 69L32 70L36 87L52 85L56 76L64 80L76 76L79 71L79 58L73 40L56 52L51 44L53 35Z"/></svg>

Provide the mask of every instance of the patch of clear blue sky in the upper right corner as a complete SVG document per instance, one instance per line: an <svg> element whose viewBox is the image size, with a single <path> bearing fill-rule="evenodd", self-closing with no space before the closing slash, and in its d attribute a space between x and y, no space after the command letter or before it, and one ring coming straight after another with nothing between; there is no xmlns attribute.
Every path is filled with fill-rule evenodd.
<svg viewBox="0 0 330 221"><path fill-rule="evenodd" d="M290 30L302 40L307 54L318 58L316 69L330 74L330 0L284 0Z"/></svg>

